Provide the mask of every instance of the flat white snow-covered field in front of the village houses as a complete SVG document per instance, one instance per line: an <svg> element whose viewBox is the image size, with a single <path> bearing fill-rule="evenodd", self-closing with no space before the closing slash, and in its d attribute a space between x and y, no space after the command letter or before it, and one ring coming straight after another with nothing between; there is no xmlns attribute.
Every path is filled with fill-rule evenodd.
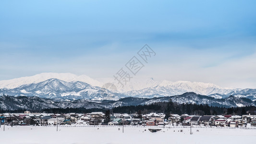
<svg viewBox="0 0 256 144"><path fill-rule="evenodd" d="M119 130L120 129L120 130ZM149 132L144 127L33 127L0 128L1 144L253 144L256 129L161 128ZM146 131L145 131L146 130ZM183 130L183 132L181 132ZM198 130L198 131L197 131Z"/></svg>

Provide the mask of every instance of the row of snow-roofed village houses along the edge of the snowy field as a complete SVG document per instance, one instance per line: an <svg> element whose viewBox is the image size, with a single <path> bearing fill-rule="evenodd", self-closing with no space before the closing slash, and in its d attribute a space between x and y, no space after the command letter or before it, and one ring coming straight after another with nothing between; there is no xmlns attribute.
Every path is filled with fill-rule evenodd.
<svg viewBox="0 0 256 144"><path fill-rule="evenodd" d="M103 112L92 112L86 114L68 113L3 113L0 114L1 124L15 125L65 125L65 124L84 124L84 125L204 125L204 126L256 126L256 115L217 115L217 116L190 116L187 114L171 114L165 119L164 113L148 113L138 115L137 113L113 113L110 120L106 122Z"/></svg>

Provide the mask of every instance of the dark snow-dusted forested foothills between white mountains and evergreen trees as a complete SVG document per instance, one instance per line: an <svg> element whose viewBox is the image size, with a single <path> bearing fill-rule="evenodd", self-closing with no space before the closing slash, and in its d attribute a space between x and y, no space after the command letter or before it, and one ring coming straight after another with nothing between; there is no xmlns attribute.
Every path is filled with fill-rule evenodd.
<svg viewBox="0 0 256 144"><path fill-rule="evenodd" d="M241 107L241 106L255 106L256 101L247 98L238 98L229 96L224 99L215 99L209 96L202 96L195 93L185 93L179 96L165 96L154 98L138 98L138 97L125 97L119 100L54 100L47 98L40 98L35 96L0 96L0 108L2 110L40 110L44 108L114 108L118 106L137 106L147 105L155 102L164 102L172 99L177 103L193 103L193 104L208 104L218 107Z"/></svg>

